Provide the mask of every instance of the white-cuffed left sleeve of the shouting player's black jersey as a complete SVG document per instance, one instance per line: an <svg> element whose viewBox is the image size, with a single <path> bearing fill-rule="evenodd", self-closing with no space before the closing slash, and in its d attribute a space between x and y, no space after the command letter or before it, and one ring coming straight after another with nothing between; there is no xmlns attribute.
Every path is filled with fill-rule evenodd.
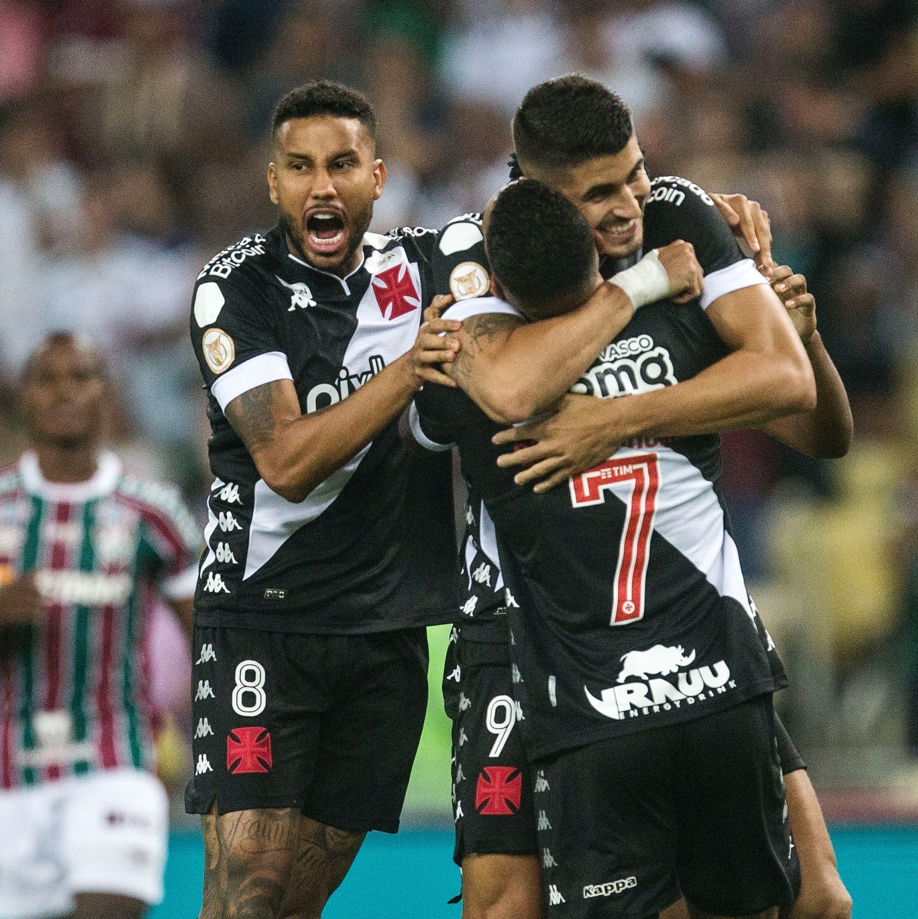
<svg viewBox="0 0 918 919"><path fill-rule="evenodd" d="M195 285L191 345L222 409L256 386L293 379L270 301L257 281L245 266L225 277L202 273Z"/></svg>

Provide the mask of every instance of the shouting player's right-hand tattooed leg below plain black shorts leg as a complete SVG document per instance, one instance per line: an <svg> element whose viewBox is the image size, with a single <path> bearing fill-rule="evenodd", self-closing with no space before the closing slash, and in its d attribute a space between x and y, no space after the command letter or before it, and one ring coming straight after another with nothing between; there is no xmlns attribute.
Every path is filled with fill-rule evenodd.
<svg viewBox="0 0 918 919"><path fill-rule="evenodd" d="M338 890L357 857L365 836L336 830L309 817L300 819L296 863L281 910L283 919L319 919L328 898Z"/></svg>

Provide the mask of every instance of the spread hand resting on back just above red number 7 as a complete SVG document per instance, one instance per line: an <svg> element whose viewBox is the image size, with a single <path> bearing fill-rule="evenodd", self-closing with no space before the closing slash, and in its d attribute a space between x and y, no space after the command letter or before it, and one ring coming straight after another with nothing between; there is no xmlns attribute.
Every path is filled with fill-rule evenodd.
<svg viewBox="0 0 918 919"><path fill-rule="evenodd" d="M607 418L597 422L595 398L566 395L551 417L499 431L495 444L529 443L499 456L498 465L525 467L513 481L541 494L609 459L620 444L610 438Z"/></svg>

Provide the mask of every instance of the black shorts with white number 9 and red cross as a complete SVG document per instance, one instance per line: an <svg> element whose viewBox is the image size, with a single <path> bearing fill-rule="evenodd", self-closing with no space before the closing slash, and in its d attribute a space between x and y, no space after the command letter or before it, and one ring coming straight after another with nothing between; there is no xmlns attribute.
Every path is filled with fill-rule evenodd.
<svg viewBox="0 0 918 919"><path fill-rule="evenodd" d="M443 702L453 719L453 859L534 855L533 773L516 726L503 619L453 629Z"/></svg>

